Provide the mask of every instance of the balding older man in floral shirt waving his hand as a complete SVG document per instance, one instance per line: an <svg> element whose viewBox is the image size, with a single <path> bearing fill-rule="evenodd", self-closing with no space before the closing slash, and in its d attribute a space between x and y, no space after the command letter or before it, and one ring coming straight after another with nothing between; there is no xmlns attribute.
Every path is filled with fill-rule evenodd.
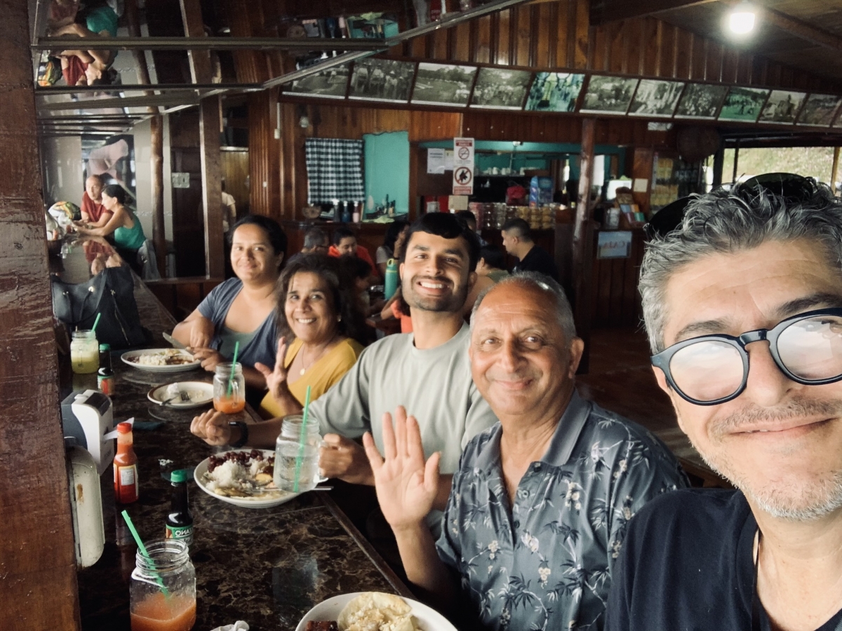
<svg viewBox="0 0 842 631"><path fill-rule="evenodd" d="M579 398L583 348L549 278L516 274L477 300L472 376L500 422L462 453L437 543L423 519L439 455L425 463L413 417L398 408L392 430L385 415L385 459L364 438L409 580L441 607L470 602L481 628L601 628L627 522L685 485L657 439Z"/></svg>

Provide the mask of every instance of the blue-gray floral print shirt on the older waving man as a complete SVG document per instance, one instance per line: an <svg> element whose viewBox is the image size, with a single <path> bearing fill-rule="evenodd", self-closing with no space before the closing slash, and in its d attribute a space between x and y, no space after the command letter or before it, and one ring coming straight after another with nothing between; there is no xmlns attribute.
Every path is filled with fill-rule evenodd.
<svg viewBox="0 0 842 631"><path fill-rule="evenodd" d="M646 429L573 392L546 453L509 501L500 424L478 434L453 478L440 558L484 629L601 629L629 520L687 485Z"/></svg>

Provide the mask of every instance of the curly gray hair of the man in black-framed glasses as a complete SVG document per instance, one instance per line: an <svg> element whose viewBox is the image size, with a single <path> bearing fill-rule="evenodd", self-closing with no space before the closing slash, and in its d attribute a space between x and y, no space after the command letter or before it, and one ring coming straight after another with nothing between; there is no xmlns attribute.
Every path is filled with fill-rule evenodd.
<svg viewBox="0 0 842 631"><path fill-rule="evenodd" d="M807 239L823 247L832 267L842 268L842 203L826 185L808 182L812 194L797 202L759 188L697 195L674 231L647 244L637 289L653 354L665 347L669 278L701 257L750 250L766 241Z"/></svg>

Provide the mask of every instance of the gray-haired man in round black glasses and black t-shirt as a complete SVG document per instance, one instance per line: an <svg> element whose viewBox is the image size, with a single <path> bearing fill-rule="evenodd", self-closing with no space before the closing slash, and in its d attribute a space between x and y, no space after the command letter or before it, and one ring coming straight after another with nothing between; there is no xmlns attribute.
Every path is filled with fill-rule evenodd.
<svg viewBox="0 0 842 631"><path fill-rule="evenodd" d="M738 490L638 513L605 628L842 628L842 204L775 174L672 215L640 278L654 373Z"/></svg>

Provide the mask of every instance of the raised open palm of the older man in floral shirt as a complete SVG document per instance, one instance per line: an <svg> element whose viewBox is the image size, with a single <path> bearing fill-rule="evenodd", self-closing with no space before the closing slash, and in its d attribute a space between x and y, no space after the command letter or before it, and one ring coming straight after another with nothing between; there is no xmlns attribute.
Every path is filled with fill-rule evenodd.
<svg viewBox="0 0 842 631"><path fill-rule="evenodd" d="M385 458L366 432L363 436L365 454L374 472L377 501L383 517L393 529L417 528L433 509L439 489L439 459L434 453L424 462L421 431L414 416L407 417L402 406L392 415L383 415L383 448Z"/></svg>

